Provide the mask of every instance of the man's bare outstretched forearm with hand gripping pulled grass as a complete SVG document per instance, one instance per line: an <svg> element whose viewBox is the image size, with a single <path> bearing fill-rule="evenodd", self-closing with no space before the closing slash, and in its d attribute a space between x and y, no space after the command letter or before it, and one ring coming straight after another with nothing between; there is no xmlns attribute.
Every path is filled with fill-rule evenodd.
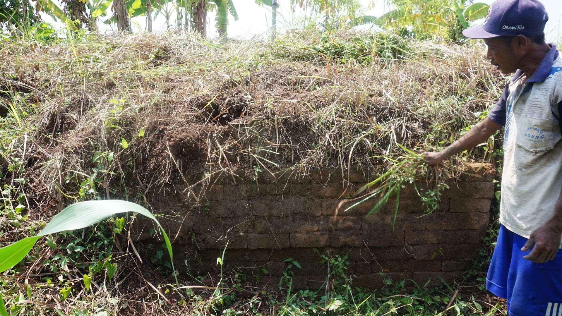
<svg viewBox="0 0 562 316"><path fill-rule="evenodd" d="M497 124L490 118L485 118L444 150L440 152L426 152L425 161L427 161L429 165L441 164L443 160L446 160L452 155L459 154L459 152L472 149L486 142L486 140L500 128L500 124Z"/></svg>

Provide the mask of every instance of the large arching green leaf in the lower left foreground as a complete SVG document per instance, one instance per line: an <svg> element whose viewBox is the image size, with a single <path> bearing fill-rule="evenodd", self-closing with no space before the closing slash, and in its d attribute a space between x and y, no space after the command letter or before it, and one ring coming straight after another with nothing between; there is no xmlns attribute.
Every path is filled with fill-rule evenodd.
<svg viewBox="0 0 562 316"><path fill-rule="evenodd" d="M170 239L158 220L144 207L132 202L121 200L85 201L67 206L58 213L37 235L23 238L11 245L0 248L0 273L13 268L28 255L39 238L49 234L56 234L74 229L81 229L105 220L118 213L134 212L152 219L160 228L166 242L171 267L174 270L173 254ZM175 270L174 270L175 271ZM174 273L174 276L176 274ZM176 279L177 283L177 279ZM1 284L1 283L0 283ZM8 316L2 296L0 296L0 316Z"/></svg>

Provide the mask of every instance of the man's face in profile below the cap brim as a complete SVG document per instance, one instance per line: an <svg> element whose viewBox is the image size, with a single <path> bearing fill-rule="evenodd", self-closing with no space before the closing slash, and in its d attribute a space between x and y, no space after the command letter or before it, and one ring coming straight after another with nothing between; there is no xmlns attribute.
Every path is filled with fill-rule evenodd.
<svg viewBox="0 0 562 316"><path fill-rule="evenodd" d="M518 69L520 52L516 42L516 38L511 43L506 43L505 39L501 37L484 39L484 43L488 46L486 57L492 62L492 65L497 66L497 69L506 75L514 73Z"/></svg>

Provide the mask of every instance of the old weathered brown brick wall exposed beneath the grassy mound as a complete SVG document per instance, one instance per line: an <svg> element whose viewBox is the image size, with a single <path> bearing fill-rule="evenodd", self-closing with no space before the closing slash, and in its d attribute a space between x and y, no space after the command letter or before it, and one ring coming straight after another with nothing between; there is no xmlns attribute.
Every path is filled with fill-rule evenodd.
<svg viewBox="0 0 562 316"><path fill-rule="evenodd" d="M360 174L345 174L347 185L339 169L236 184L222 179L197 207L189 206L185 193L162 195L164 213L178 216L161 221L174 240L180 271L219 269L216 258L228 242L224 269L240 269L250 281L271 286L278 284L288 258L301 266L292 268L293 287L320 286L330 270L323 254L347 255L354 286L378 288L384 278L401 277L437 285L439 277L452 281L470 269L483 247L494 175L490 165L467 165L460 181L443 192L440 209L425 216L414 189L402 189L394 230L392 200L378 214L365 216L373 200L346 212L352 202L344 204L334 215L341 197L353 196L365 182Z"/></svg>

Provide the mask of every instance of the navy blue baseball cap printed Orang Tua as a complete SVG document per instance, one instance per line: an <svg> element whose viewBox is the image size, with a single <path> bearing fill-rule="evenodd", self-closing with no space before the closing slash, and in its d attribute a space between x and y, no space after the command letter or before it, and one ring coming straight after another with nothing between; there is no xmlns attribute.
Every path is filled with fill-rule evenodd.
<svg viewBox="0 0 562 316"><path fill-rule="evenodd" d="M535 36L545 32L549 15L537 0L498 0L490 5L482 26L463 31L468 38L492 38L503 35Z"/></svg>

